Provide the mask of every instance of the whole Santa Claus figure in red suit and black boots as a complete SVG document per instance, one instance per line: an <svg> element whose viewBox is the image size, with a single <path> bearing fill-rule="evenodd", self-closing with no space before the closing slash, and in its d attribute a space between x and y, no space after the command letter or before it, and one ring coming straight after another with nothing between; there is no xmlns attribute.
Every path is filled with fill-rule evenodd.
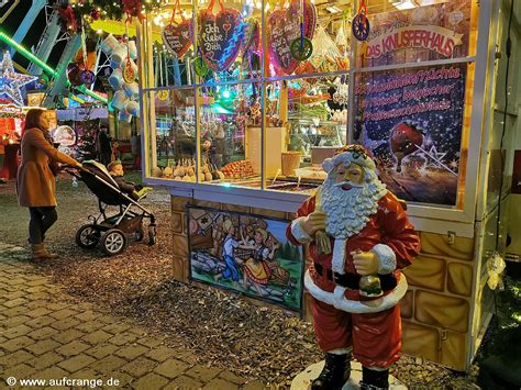
<svg viewBox="0 0 521 390"><path fill-rule="evenodd" d="M311 388L341 389L354 357L363 366L362 389L387 389L401 349L398 302L407 281L400 269L418 255L420 238L364 147L336 151L323 168L322 189L287 230L295 245L309 244L313 260L304 285L325 366Z"/></svg>

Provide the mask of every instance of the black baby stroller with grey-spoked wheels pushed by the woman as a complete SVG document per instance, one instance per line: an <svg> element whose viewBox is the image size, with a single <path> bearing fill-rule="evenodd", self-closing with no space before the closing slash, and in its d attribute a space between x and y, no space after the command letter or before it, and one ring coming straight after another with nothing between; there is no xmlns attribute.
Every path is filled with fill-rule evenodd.
<svg viewBox="0 0 521 390"><path fill-rule="evenodd" d="M125 249L128 238L133 236L142 241L145 236L143 220L148 219L148 245L156 241L155 216L129 194L122 192L110 176L104 165L88 160L82 163L84 168L77 171L67 171L81 180L98 198L100 214L89 215L90 223L82 225L76 233L76 244L82 248L95 248L98 244L109 256L118 255ZM107 216L109 205L117 205L120 211ZM132 210L131 210L132 208ZM137 210L138 209L138 210Z"/></svg>

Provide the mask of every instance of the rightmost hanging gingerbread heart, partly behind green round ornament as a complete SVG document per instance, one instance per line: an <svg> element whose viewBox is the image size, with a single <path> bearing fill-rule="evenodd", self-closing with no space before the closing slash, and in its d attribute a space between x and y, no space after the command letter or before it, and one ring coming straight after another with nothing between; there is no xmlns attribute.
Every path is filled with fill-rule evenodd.
<svg viewBox="0 0 521 390"><path fill-rule="evenodd" d="M299 60L291 55L291 43L301 36L300 14L302 35L312 40L317 10L309 0L302 4L300 0L292 0L288 9L276 10L268 18L269 59L278 74L291 75L299 66Z"/></svg>

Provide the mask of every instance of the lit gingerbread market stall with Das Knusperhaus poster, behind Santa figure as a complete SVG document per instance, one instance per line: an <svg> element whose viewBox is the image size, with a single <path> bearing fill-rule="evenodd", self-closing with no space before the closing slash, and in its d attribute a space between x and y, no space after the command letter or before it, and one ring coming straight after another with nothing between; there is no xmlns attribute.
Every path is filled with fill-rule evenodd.
<svg viewBox="0 0 521 390"><path fill-rule="evenodd" d="M486 75L499 3L170 1L144 20L144 176L170 188L175 278L309 316L308 256L284 226L324 179L321 163L362 143L421 232L403 352L467 369L491 303L484 134L497 131ZM263 261L237 249L226 263L239 237Z"/></svg>

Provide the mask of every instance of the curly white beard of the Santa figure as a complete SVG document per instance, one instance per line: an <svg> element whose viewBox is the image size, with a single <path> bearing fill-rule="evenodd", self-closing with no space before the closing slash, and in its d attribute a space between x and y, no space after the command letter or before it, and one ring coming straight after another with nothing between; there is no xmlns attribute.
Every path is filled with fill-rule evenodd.
<svg viewBox="0 0 521 390"><path fill-rule="evenodd" d="M322 210L328 215L325 232L334 238L348 238L361 232L370 215L378 210L378 201L387 192L378 179L363 187L343 190L328 178L322 185Z"/></svg>

